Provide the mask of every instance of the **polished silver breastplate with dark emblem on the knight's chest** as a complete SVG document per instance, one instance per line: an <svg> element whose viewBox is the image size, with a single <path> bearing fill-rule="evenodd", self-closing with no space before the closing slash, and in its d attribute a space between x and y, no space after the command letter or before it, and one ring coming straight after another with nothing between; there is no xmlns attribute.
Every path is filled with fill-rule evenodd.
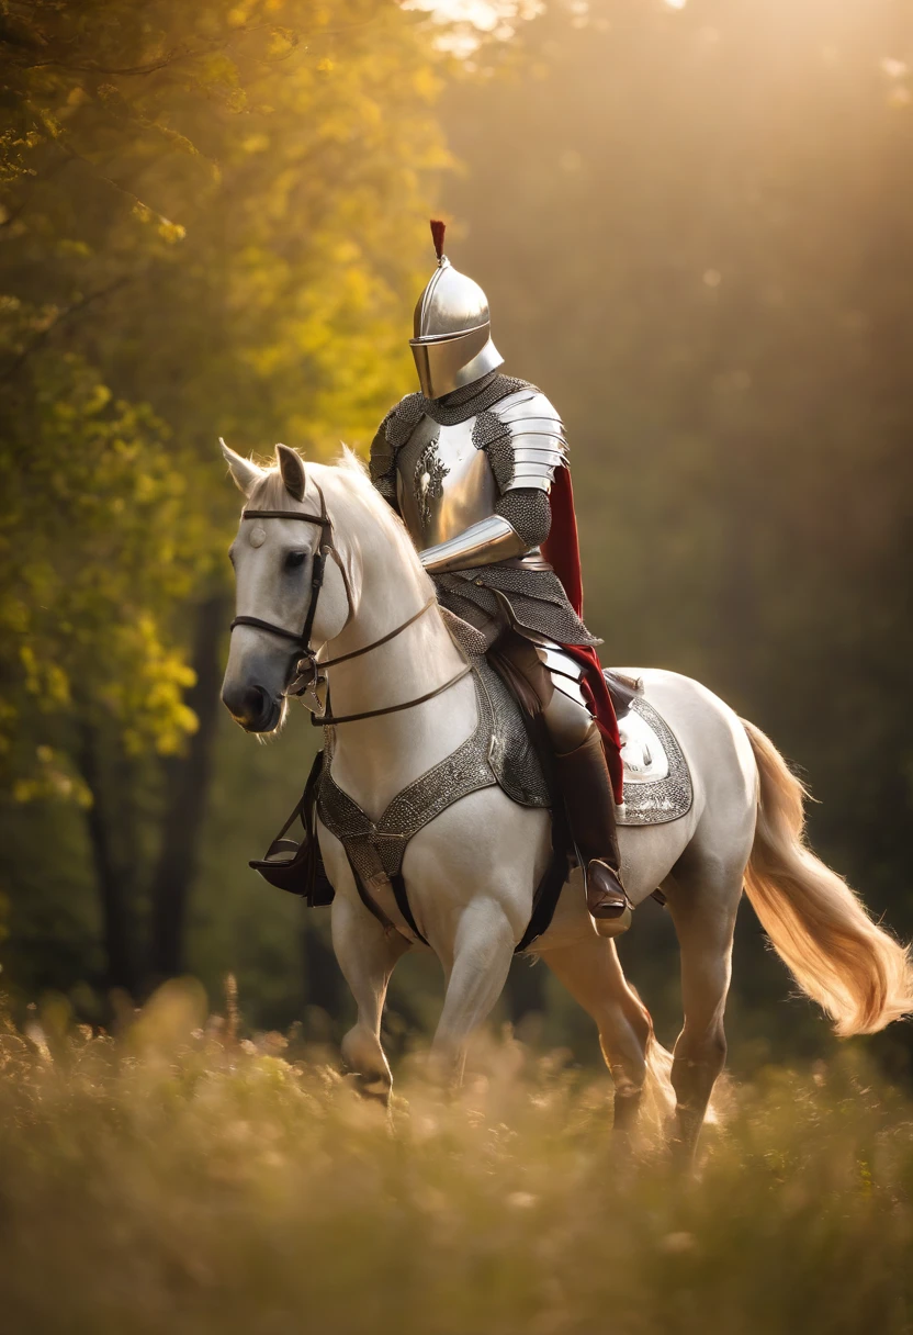
<svg viewBox="0 0 913 1335"><path fill-rule="evenodd" d="M438 426L422 418L396 454L399 513L419 551L495 513L498 483L485 450L473 445L475 418Z"/></svg>

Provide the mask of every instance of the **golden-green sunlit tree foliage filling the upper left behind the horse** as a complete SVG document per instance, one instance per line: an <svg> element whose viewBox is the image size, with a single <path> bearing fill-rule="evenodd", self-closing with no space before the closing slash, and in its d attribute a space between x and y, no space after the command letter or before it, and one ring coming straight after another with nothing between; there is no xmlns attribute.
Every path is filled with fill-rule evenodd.
<svg viewBox="0 0 913 1335"><path fill-rule="evenodd" d="M366 0L4 7L16 798L53 788L36 706L107 720L128 752L192 730L180 606L232 513L215 438L326 450L403 380L403 240L444 162L419 28Z"/></svg>

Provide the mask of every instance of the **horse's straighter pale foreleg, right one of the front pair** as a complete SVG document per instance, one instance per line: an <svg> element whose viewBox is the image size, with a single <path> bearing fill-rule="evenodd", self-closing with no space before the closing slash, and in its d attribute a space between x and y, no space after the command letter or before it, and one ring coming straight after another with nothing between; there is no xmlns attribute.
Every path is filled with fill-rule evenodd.
<svg viewBox="0 0 913 1335"><path fill-rule="evenodd" d="M514 944L514 929L494 898L474 900L461 913L431 1044L431 1061L442 1076L462 1079L466 1044L503 991Z"/></svg>

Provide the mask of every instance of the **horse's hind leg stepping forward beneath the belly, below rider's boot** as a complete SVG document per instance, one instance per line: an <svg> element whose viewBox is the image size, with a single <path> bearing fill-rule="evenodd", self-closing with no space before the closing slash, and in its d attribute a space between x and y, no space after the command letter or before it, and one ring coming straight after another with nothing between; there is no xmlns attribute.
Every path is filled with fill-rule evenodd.
<svg viewBox="0 0 913 1335"><path fill-rule="evenodd" d="M653 1024L646 1007L631 992L615 943L591 937L579 945L543 951L542 959L599 1029L599 1045L615 1083L615 1131L630 1131L637 1120L646 1080L646 1053Z"/></svg>

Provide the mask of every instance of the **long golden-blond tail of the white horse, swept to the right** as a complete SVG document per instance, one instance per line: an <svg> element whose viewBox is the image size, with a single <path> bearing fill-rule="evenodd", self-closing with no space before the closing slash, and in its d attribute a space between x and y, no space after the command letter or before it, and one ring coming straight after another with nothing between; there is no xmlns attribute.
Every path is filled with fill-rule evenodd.
<svg viewBox="0 0 913 1335"><path fill-rule="evenodd" d="M805 842L808 796L784 757L743 722L761 778L745 890L777 955L841 1037L876 1033L913 1012L908 951L873 922L846 881Z"/></svg>

